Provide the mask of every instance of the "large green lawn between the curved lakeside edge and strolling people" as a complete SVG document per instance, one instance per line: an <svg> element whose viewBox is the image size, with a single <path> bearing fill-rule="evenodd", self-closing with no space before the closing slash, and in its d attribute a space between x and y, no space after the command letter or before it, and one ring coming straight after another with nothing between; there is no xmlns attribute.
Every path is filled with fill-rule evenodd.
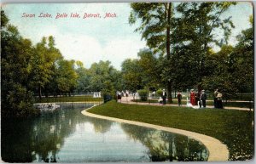
<svg viewBox="0 0 256 164"><path fill-rule="evenodd" d="M88 111L206 134L228 145L231 161L253 158L253 111L126 105L115 101Z"/></svg>

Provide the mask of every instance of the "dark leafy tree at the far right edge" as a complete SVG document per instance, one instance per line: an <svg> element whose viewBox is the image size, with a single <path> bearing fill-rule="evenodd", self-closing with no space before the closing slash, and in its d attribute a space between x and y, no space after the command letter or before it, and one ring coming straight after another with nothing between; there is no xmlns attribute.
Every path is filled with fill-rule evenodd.
<svg viewBox="0 0 256 164"><path fill-rule="evenodd" d="M220 88L226 99L236 93L253 93L253 24L237 38L235 48L223 45L206 59L210 76L203 78L203 86L212 91Z"/></svg>

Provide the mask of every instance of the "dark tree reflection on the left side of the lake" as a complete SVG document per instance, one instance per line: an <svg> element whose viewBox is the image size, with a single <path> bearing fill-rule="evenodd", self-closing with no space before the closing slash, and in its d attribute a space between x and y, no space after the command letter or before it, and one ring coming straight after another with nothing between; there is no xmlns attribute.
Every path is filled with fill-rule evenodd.
<svg viewBox="0 0 256 164"><path fill-rule="evenodd" d="M82 107L84 106L80 106ZM60 110L45 112L37 118L2 119L1 156L3 161L55 162L56 154L64 144L64 139L74 133L74 127L82 120L84 118L80 110L74 110L73 105L61 105Z"/></svg>

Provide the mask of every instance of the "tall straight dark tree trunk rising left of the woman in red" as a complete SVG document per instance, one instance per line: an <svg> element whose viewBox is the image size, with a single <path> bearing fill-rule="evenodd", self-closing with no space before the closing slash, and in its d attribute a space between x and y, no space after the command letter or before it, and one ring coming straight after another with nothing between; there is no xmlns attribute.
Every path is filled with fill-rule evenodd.
<svg viewBox="0 0 256 164"><path fill-rule="evenodd" d="M171 36L170 36L170 31L171 31L171 10L172 9L172 3L168 3L167 5L167 27L166 27L166 59L167 63L170 64L169 62L171 60L171 50L170 50L170 45L171 45ZM171 65L167 65L171 66ZM172 103L172 81L171 79L167 81L167 93L168 93L168 102Z"/></svg>

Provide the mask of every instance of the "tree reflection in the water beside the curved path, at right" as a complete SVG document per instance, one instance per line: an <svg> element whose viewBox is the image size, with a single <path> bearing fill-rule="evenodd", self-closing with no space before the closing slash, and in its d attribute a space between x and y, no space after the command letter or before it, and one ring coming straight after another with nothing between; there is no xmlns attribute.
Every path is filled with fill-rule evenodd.
<svg viewBox="0 0 256 164"><path fill-rule="evenodd" d="M129 124L121 124L121 127L130 139L148 147L151 161L207 161L207 149L195 139Z"/></svg>

